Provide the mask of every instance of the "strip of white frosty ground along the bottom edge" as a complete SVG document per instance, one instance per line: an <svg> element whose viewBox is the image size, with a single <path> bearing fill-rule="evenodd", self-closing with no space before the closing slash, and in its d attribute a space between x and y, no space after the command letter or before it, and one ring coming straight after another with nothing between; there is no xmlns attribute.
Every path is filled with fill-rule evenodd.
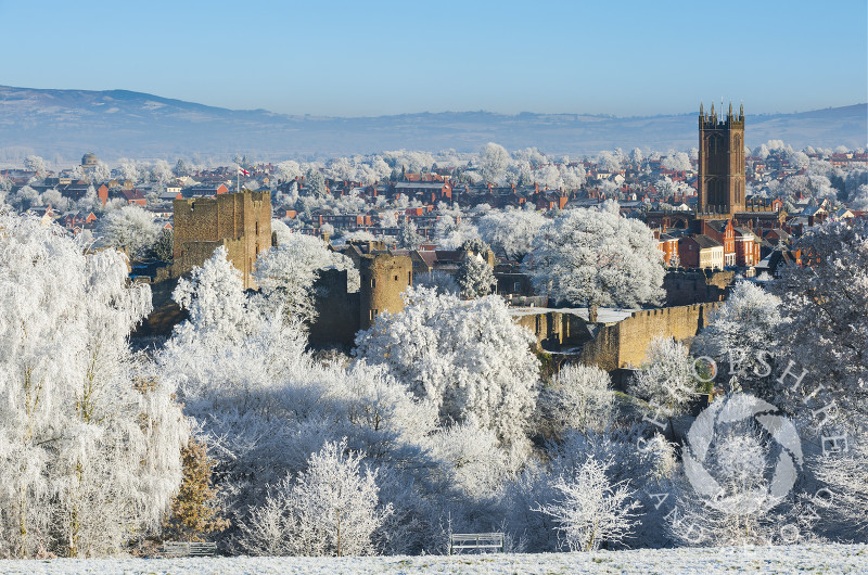
<svg viewBox="0 0 868 575"><path fill-rule="evenodd" d="M386 558L54 559L0 561L0 573L868 573L868 545L803 545Z"/></svg>

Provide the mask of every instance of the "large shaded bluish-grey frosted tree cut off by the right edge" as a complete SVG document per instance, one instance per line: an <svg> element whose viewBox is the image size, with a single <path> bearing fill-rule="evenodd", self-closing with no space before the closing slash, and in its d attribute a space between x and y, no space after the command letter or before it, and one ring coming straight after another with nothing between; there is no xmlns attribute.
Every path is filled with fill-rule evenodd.
<svg viewBox="0 0 868 575"><path fill-rule="evenodd" d="M789 320L780 335L792 376L778 397L802 409L806 393L822 384L845 418L868 414L868 222L827 222L805 234L804 267L786 267L771 291ZM803 370L810 378L796 384ZM808 381L809 380L809 381Z"/></svg>

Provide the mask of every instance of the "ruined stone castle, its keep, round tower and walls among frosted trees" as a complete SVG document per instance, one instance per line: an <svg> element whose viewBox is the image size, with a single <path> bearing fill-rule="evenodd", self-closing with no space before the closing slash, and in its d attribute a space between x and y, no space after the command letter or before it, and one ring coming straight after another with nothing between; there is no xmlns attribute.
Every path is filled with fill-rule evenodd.
<svg viewBox="0 0 868 575"><path fill-rule="evenodd" d="M176 200L173 278L203 265L217 246L224 245L229 259L242 271L244 286L256 289L252 276L256 258L273 245L270 200L269 192L251 191ZM356 250L349 254L360 276L358 291L349 290L346 270L320 272L314 286L317 318L309 331L314 346L353 347L357 332L373 325L380 314L404 309L401 293L413 284L416 263L409 255L385 250L369 252ZM697 283L690 278L679 279L681 282ZM151 325L151 333L167 333L181 318L180 310L170 301L174 283L169 280L153 286L155 314L152 319L155 321L151 323L158 325ZM701 283L706 286L707 279ZM682 286L677 288L676 292L684 291ZM681 294L681 299L685 303L702 302L700 296L703 294L698 296L693 292ZM157 294L162 294L159 305ZM707 314L717 305L625 310L596 324L583 317L582 310L570 309L516 308L513 319L528 328L540 346L548 349L580 348L577 356L580 361L607 371L617 371L641 365L648 345L656 336L679 341L691 338L706 324Z"/></svg>

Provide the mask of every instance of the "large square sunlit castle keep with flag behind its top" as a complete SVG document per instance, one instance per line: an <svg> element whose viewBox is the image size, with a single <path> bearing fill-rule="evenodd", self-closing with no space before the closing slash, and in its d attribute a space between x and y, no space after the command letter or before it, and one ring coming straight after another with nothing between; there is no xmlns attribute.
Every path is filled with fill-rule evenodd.
<svg viewBox="0 0 868 575"><path fill-rule="evenodd" d="M271 192L218 194L175 200L173 276L202 266L217 246L243 273L244 289L255 289L253 270L259 252L271 247Z"/></svg>

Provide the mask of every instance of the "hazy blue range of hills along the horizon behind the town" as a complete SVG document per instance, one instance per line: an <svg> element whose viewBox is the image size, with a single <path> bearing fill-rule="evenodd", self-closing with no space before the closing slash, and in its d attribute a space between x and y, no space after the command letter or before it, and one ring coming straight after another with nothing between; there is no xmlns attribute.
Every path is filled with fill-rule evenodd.
<svg viewBox="0 0 868 575"><path fill-rule="evenodd" d="M750 110L750 104L748 104ZM745 138L793 148L848 148L868 141L868 105L797 114L748 115ZM27 154L69 163L92 151L118 157L227 161L315 158L416 149L509 150L582 155L620 146L665 151L697 145L697 113L614 117L579 114L444 112L379 117L317 117L235 111L126 90L37 90L0 86L0 165Z"/></svg>

